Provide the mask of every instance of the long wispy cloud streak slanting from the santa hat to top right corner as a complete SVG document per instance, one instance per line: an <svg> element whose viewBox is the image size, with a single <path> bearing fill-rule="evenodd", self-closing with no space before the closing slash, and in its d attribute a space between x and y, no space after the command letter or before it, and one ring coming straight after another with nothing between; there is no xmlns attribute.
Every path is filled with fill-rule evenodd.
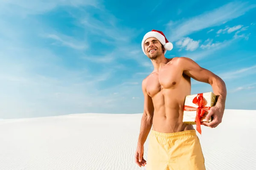
<svg viewBox="0 0 256 170"><path fill-rule="evenodd" d="M169 40L176 41L196 31L220 26L226 21L244 15L247 11L255 7L256 5L250 5L248 3L232 2L187 20L171 21L167 25L167 30L170 33Z"/></svg>

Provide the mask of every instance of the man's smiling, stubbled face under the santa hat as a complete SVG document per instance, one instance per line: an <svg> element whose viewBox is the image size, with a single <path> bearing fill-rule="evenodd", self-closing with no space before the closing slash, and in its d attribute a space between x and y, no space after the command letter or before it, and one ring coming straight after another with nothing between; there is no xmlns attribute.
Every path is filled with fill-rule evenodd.
<svg viewBox="0 0 256 170"><path fill-rule="evenodd" d="M150 59L156 59L163 54L163 45L156 38L148 38L144 43L145 52Z"/></svg>

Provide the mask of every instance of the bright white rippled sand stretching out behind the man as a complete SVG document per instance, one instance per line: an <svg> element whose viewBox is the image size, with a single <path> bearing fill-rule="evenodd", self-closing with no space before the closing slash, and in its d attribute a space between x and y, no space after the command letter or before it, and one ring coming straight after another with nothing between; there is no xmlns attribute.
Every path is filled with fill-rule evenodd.
<svg viewBox="0 0 256 170"><path fill-rule="evenodd" d="M0 170L145 170L134 161L141 116L0 120ZM202 126L207 170L256 170L255 123L256 111L226 110L217 128Z"/></svg>

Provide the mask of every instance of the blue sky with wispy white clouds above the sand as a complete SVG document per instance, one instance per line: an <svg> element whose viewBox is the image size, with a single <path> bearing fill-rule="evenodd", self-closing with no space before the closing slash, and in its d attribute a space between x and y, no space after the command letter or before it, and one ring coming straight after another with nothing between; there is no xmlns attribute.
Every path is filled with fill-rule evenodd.
<svg viewBox="0 0 256 170"><path fill-rule="evenodd" d="M227 109L256 110L255 2L119 2L1 1L0 119L142 113L153 66L140 43L152 29L173 43L167 58L224 79ZM192 80L191 94L208 91Z"/></svg>

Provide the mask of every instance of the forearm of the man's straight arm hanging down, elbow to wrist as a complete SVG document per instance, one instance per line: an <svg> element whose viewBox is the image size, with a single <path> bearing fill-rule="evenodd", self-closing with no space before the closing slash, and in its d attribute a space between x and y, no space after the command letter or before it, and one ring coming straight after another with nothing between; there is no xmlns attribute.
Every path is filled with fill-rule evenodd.
<svg viewBox="0 0 256 170"><path fill-rule="evenodd" d="M148 134L151 130L153 116L143 113L140 125L140 135L138 139L138 145L144 145Z"/></svg>

